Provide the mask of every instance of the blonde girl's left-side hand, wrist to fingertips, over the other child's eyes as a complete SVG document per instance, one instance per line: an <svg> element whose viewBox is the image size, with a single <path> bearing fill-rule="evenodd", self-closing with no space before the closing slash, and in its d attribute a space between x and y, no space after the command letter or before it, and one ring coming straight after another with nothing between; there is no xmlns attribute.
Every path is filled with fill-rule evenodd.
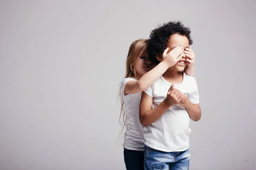
<svg viewBox="0 0 256 170"><path fill-rule="evenodd" d="M183 49L182 47L177 46L167 54L168 50L169 48L167 47L165 51L163 51L162 62L166 62L169 67L172 67L182 58L182 55L180 54L182 53Z"/></svg>

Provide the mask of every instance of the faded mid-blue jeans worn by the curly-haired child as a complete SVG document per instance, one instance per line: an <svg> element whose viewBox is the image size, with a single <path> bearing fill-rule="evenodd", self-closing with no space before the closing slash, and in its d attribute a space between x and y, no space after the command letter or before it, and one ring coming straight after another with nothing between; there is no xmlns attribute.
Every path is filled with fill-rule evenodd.
<svg viewBox="0 0 256 170"><path fill-rule="evenodd" d="M151 147L144 147L145 170L188 170L189 150L182 152L163 152Z"/></svg>

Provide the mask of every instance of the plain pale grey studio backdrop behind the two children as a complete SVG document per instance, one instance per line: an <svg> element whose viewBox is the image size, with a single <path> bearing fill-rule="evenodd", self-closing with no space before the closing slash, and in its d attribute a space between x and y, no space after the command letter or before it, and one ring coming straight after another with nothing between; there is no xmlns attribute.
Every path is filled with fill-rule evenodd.
<svg viewBox="0 0 256 170"><path fill-rule="evenodd" d="M0 170L125 170L118 85L134 40L192 31L191 170L256 167L254 0L0 1Z"/></svg>

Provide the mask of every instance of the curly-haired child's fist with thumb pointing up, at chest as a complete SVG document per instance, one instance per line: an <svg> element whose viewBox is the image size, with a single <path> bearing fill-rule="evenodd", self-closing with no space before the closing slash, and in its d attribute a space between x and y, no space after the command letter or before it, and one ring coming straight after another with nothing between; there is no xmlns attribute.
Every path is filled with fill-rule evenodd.
<svg viewBox="0 0 256 170"><path fill-rule="evenodd" d="M170 107L172 105L177 105L181 101L181 96L182 93L178 89L174 88L174 85L172 84L172 86L168 90L166 102L168 105L170 105Z"/></svg>

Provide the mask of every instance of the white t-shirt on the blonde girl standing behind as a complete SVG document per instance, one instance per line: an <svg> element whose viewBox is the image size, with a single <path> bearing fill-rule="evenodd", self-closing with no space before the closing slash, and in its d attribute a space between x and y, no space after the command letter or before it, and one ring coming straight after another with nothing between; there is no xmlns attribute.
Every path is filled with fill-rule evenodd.
<svg viewBox="0 0 256 170"><path fill-rule="evenodd" d="M137 81L133 78L125 78L121 83L121 93L124 102L123 107L125 108L125 114L127 115L124 147L129 150L143 151L145 146L142 140L143 126L140 124L139 119L141 92L124 95L125 84L130 80Z"/></svg>

